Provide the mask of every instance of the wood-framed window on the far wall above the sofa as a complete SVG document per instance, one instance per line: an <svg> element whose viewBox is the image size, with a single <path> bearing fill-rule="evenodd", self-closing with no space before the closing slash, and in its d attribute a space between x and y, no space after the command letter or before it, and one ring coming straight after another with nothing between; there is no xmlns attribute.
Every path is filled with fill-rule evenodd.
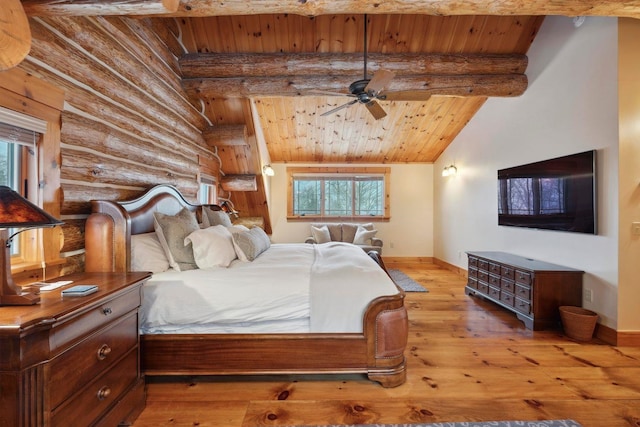
<svg viewBox="0 0 640 427"><path fill-rule="evenodd" d="M389 168L289 168L290 219L389 218Z"/></svg>

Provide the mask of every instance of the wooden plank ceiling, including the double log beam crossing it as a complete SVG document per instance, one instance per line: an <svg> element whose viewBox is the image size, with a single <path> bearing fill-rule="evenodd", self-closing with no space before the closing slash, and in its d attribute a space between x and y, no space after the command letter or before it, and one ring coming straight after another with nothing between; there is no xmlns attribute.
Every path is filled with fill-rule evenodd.
<svg viewBox="0 0 640 427"><path fill-rule="evenodd" d="M171 31L179 34L186 53L180 60L183 85L194 102L202 102L217 126L245 124L255 108L255 125L261 127L272 162L429 163L487 99L477 95L524 91L524 54L543 17L367 19L367 77L387 69L389 58L396 73L389 91L427 89L433 94L421 101L379 101L387 113L380 120L359 103L322 117L353 98L312 92L346 94L351 82L364 78L364 15L188 17ZM433 53L440 55L427 55ZM473 68L486 58L504 65ZM257 75L249 75L252 69ZM255 163L236 172L256 173Z"/></svg>

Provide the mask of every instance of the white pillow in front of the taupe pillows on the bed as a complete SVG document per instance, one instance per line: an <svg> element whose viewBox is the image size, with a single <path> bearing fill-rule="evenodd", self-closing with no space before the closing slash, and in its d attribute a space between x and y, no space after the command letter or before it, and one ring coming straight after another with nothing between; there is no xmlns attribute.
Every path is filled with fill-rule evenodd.
<svg viewBox="0 0 640 427"><path fill-rule="evenodd" d="M237 258L231 232L224 225L196 230L184 239L188 243L198 268L228 267Z"/></svg>

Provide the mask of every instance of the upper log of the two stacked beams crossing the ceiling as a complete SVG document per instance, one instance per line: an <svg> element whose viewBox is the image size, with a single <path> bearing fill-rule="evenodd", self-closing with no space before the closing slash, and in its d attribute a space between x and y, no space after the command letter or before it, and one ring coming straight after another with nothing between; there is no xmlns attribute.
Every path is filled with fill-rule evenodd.
<svg viewBox="0 0 640 427"><path fill-rule="evenodd" d="M202 53L180 58L184 78L300 76L352 74L363 71L362 53ZM523 74L527 57L520 54L381 54L367 55L373 73L384 69L403 74Z"/></svg>

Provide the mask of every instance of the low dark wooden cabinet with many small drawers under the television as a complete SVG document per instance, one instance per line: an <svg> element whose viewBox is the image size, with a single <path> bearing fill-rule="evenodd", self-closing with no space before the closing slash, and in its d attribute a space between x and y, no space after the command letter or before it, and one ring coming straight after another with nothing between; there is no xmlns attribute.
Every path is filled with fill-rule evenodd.
<svg viewBox="0 0 640 427"><path fill-rule="evenodd" d="M467 295L514 312L527 328L555 327L558 307L582 306L583 271L505 252L467 252Z"/></svg>

